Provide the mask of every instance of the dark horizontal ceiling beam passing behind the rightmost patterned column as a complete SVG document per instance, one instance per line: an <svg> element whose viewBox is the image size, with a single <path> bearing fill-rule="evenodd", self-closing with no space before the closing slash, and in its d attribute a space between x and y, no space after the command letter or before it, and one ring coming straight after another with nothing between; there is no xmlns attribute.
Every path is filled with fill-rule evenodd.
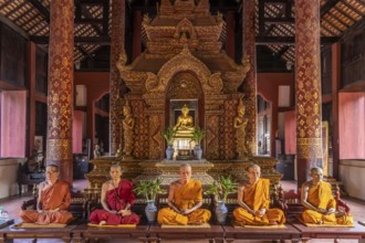
<svg viewBox="0 0 365 243"><path fill-rule="evenodd" d="M338 41L337 36L321 36L321 44L333 44ZM257 36L257 45L279 44L279 45L295 45L294 36Z"/></svg>

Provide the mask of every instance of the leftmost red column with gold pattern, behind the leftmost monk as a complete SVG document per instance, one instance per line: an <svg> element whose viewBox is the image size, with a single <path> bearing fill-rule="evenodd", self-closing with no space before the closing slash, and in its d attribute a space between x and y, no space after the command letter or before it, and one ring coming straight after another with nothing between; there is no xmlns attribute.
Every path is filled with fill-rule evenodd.
<svg viewBox="0 0 365 243"><path fill-rule="evenodd" d="M74 1L51 1L46 163L72 183Z"/></svg>

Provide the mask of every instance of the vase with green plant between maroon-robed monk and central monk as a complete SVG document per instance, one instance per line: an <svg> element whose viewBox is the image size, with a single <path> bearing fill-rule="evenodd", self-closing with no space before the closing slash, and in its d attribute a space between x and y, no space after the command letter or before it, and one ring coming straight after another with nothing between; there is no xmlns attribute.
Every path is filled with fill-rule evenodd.
<svg viewBox="0 0 365 243"><path fill-rule="evenodd" d="M136 184L134 191L137 194L142 194L146 200L146 218L149 223L155 222L157 215L157 207L155 205L156 197L160 190L161 179L156 178L154 180L144 180Z"/></svg>

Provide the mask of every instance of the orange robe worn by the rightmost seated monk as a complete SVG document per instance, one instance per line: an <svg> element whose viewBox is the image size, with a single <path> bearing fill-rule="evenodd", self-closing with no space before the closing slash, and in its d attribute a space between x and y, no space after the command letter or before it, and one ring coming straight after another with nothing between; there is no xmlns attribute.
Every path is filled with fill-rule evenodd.
<svg viewBox="0 0 365 243"><path fill-rule="evenodd" d="M307 191L307 202L315 208L328 210L336 209L336 201L332 194L332 186L328 182L320 181L317 186ZM304 210L302 218L305 223L323 224L353 224L353 218L350 215L337 216L335 213L322 214L314 210Z"/></svg>

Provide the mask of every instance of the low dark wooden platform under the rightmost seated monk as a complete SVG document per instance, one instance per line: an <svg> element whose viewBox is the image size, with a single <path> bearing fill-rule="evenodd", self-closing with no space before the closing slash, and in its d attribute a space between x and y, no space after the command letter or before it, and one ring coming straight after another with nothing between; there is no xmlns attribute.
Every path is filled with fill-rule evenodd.
<svg viewBox="0 0 365 243"><path fill-rule="evenodd" d="M311 239L365 239L365 226L354 222L354 228L309 228L301 222L292 223L301 232L302 241Z"/></svg>

